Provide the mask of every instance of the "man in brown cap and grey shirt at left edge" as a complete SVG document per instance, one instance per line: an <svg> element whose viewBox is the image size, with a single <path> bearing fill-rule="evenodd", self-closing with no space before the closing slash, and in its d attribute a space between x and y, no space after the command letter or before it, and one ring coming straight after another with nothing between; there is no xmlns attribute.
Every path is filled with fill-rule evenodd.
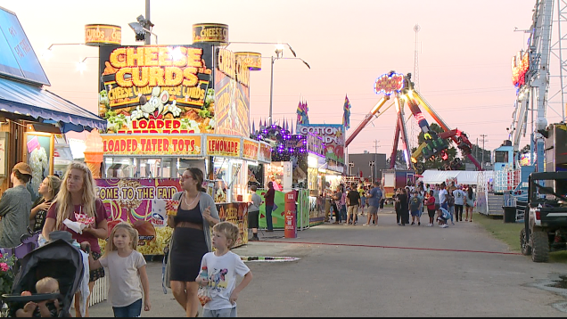
<svg viewBox="0 0 567 319"><path fill-rule="evenodd" d="M31 195L26 184L31 179L31 168L20 162L12 168L10 181L13 187L2 194L0 200L0 247L10 248L21 244L20 237L28 232Z"/></svg>

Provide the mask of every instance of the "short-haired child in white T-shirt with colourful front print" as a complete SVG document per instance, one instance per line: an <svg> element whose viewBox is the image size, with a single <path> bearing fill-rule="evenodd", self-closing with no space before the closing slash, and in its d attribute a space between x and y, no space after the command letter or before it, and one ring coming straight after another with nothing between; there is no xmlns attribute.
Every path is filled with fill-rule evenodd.
<svg viewBox="0 0 567 319"><path fill-rule="evenodd" d="M203 308L204 317L235 317L238 294L252 281L252 273L241 258L229 249L238 238L238 226L221 222L213 226L212 245L201 261L201 272L195 282L209 286L210 301ZM236 288L236 275L243 276Z"/></svg>

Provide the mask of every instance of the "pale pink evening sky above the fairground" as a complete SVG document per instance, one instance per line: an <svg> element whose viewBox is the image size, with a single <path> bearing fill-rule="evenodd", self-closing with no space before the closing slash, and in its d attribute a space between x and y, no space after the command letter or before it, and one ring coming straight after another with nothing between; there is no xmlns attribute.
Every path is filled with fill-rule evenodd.
<svg viewBox="0 0 567 319"><path fill-rule="evenodd" d="M297 105L308 102L311 123L340 124L345 95L352 105L350 135L381 98L374 94L375 79L395 70L414 73L415 24L418 33L418 91L448 127L464 131L469 139L493 150L508 138L515 88L511 59L527 46L536 0L210 0L151 2L150 20L159 45L192 43L194 23L224 23L234 42L282 42L292 46L300 60L274 64L274 119L297 119ZM122 45L135 41L128 22L145 15L144 0L37 1L0 0L15 12L36 54L52 44L84 41L86 24L104 23L122 28ZM555 15L554 15L555 16ZM557 31L552 30L556 36ZM155 44L155 37L152 37ZM232 44L233 51L262 53L262 70L251 72L251 120L266 119L270 97L270 60L273 45ZM55 94L97 112L98 49L85 45L54 45L49 60L40 57ZM292 53L284 49L284 57ZM80 72L77 62L86 59ZM552 76L558 68L550 66ZM555 87L555 92L558 90ZM550 87L550 92L554 87ZM388 106L389 104L386 104ZM550 104L552 105L552 104ZM560 107L547 110L548 123L561 120ZM382 110L384 110L382 108ZM408 111L407 111L408 114ZM395 108L384 110L357 135L349 153L377 151L390 154L395 131ZM426 119L433 122L429 115ZM530 132L531 119L528 125ZM408 122L416 140L418 128ZM412 134L413 132L413 134ZM520 148L529 142L522 138ZM374 143L377 141L377 143ZM400 144L401 145L401 144ZM415 144L412 146L416 146Z"/></svg>

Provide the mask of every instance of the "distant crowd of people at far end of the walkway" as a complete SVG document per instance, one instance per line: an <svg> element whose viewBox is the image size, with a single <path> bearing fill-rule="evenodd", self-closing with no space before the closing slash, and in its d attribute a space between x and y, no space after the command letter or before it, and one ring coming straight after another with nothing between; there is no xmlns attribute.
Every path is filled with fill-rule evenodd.
<svg viewBox="0 0 567 319"><path fill-rule="evenodd" d="M378 225L378 212L384 209L386 200L380 182L374 184L339 184L334 192L325 190L324 196L329 200L325 208L325 223L357 225L357 215L365 214L364 226ZM442 228L455 222L473 222L473 208L476 196L471 185L456 185L451 182L441 184L408 184L395 190L392 196L396 223L400 226L422 225L421 217L427 213L427 226L432 227L437 221ZM332 214L333 213L333 214ZM411 217L411 221L410 221Z"/></svg>

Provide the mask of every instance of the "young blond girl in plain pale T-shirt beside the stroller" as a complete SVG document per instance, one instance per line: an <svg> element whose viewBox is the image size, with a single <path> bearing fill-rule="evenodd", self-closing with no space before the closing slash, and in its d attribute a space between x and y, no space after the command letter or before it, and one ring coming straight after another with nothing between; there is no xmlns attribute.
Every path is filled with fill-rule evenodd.
<svg viewBox="0 0 567 319"><path fill-rule="evenodd" d="M138 232L132 225L119 223L112 228L104 255L98 260L89 257L91 268L105 267L111 276L109 299L115 317L136 317L144 310L150 311L150 284L145 272L144 256L136 251Z"/></svg>

